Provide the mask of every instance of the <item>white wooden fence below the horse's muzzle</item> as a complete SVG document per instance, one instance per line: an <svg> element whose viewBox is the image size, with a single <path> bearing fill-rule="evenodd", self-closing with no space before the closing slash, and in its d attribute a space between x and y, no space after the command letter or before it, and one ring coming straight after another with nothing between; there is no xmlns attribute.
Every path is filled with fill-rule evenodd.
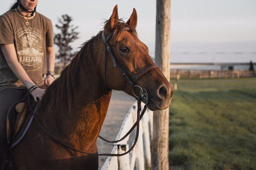
<svg viewBox="0 0 256 170"><path fill-rule="evenodd" d="M141 104L143 109L144 104ZM130 108L128 114L125 116L116 140L122 138L137 121L137 102ZM135 129L134 129L135 130ZM101 170L145 170L151 169L151 153L150 144L153 135L153 112L148 110L143 115L140 121L140 133L137 144L134 149L124 156L109 156ZM129 150L128 135L123 141L115 143L111 153L125 153ZM132 142L133 143L133 142Z"/></svg>

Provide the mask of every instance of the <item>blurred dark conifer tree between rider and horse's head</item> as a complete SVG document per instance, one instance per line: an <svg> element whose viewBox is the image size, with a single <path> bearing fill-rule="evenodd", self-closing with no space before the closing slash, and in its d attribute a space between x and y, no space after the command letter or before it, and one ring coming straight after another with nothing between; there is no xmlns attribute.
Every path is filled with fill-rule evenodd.
<svg viewBox="0 0 256 170"><path fill-rule="evenodd" d="M55 25L60 30L60 33L54 35L54 43L58 46L56 58L65 64L71 61L74 55L70 43L79 38L79 32L76 32L78 26L70 25L72 20L69 15L64 14L58 19L58 24Z"/></svg>

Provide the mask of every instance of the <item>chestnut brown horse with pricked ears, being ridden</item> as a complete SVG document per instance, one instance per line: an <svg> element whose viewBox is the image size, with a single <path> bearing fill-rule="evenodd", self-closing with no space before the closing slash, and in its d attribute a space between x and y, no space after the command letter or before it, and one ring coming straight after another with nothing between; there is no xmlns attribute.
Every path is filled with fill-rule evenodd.
<svg viewBox="0 0 256 170"><path fill-rule="evenodd" d="M103 30L106 36L113 32L109 45L119 61L134 74L154 64L147 46L137 37L136 25L135 9L124 23L119 20L115 6ZM60 77L48 87L37 113L43 126L53 136L87 153L98 153L96 139L111 98L111 90L103 88L105 62L108 87L133 95L132 87L118 68L113 67L109 54L104 57L106 50L101 33L83 44ZM173 87L160 69L146 72L136 84L147 90L147 106L151 110L166 109L169 106ZM98 156L78 153L56 144L35 121L23 141L12 150L12 156L19 170L98 169Z"/></svg>

